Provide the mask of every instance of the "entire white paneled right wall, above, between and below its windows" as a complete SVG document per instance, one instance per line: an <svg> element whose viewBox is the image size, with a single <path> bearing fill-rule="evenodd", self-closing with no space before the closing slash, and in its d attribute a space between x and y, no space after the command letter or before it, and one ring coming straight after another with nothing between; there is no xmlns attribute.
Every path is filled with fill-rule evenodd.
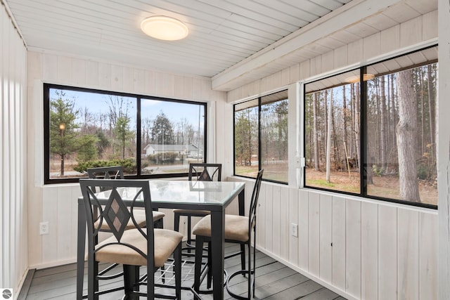
<svg viewBox="0 0 450 300"><path fill-rule="evenodd" d="M444 2L444 1L442 1ZM439 10L441 10L439 1ZM448 3L442 10L448 32ZM442 15L441 19L444 20ZM442 37L443 34L441 34ZM439 53L445 53L443 62L439 54L439 98L449 94L449 35L444 34L446 48L439 39ZM228 93L228 102L257 96L282 86L289 86L290 95L299 95L297 81L318 77L349 65L367 63L399 51L420 45L437 43L437 11L420 15L375 33L351 44L335 48L316 58L272 74L264 79L246 84ZM446 68L442 67L446 63ZM443 71L444 70L444 71ZM301 86L300 86L301 89ZM448 102L439 102L439 127L448 128ZM445 105L447 109L442 109ZM296 110L296 107L300 107ZM297 116L297 111L300 117ZM290 166L297 164L295 157L302 157L302 103L301 98L290 96L289 136ZM449 163L449 133L439 148L439 160ZM442 131L439 131L439 135ZM297 137L300 138L297 141ZM232 136L228 143L233 143ZM439 136L439 143L442 136ZM297 152L298 151L298 152ZM446 168L446 169L445 169ZM449 207L448 166L439 173L439 206ZM446 211L441 222L446 231L445 247L441 258L445 263L439 281L438 298L438 215L432 209L420 209L387 202L345 197L336 193L320 193L298 189L300 169L289 173L289 185L262 183L259 199L257 246L262 252L295 268L309 278L348 299L449 299L449 215ZM232 178L237 181L247 181ZM248 188L251 188L251 181ZM442 197L445 190L445 197ZM439 212L443 211L442 207ZM299 225L298 237L290 235L290 223ZM439 240L440 241L440 240ZM331 245L333 243L333 246ZM442 286L442 288L441 288Z"/></svg>

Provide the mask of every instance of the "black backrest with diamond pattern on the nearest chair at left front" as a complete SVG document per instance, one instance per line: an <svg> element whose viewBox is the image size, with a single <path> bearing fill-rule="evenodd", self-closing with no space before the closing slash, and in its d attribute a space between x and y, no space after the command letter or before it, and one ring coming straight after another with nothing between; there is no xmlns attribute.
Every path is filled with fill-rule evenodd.
<svg viewBox="0 0 450 300"><path fill-rule="evenodd" d="M153 266L154 232L153 232L153 212L150 197L150 185L148 181L125 180L125 179L79 179L82 189L84 208L86 211L86 223L88 233L89 255L94 254L96 249L96 239L101 231L103 222L108 223L110 232L113 233L117 242L102 244L102 247L111 244L122 244L121 238L127 228L127 223L131 219L137 230L148 240L148 255L134 247L132 244L122 244L125 247L134 249L144 258L150 257L150 266ZM101 193L95 193L96 188L105 187ZM102 201L102 202L101 202ZM136 205L139 204L139 205ZM135 207L145 207L146 227L141 228L134 218ZM152 249L152 250L150 250Z"/></svg>

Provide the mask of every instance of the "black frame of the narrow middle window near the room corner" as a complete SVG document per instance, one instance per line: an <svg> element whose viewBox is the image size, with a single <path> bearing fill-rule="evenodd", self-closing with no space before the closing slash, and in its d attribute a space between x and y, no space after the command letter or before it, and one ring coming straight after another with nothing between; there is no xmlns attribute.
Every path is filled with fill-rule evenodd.
<svg viewBox="0 0 450 300"><path fill-rule="evenodd" d="M278 89L276 91L271 91L270 93L264 93L261 96L258 97L252 97L252 98L248 98L246 100L240 101L239 103L235 103L233 104L233 176L239 176L239 177L243 177L243 178L251 178L251 179L255 179L255 177L250 177L250 176L245 176L245 175L241 175L241 174L236 174L236 146L235 146L235 141L236 141L236 131L234 129L236 129L236 105L240 105L242 103L246 103L246 102L250 102L250 101L255 101L257 100L258 102L258 170L262 169L263 164L262 164L262 147L261 147L261 106L264 105L264 103L262 103L262 98L266 97L266 96L270 96L272 94L276 94L276 93L280 93L285 91L287 94L289 94L289 90L287 87L283 87L282 89ZM287 97L286 99L289 100L289 98ZM288 112L289 114L289 112ZM289 138L289 136L288 136ZM288 174L289 174L289 164L288 164ZM288 175L287 174L287 175ZM262 181L266 181L266 182L271 182L271 183L280 183L283 185L288 185L288 180L287 181L276 181L273 179L268 179L268 178L262 178Z"/></svg>

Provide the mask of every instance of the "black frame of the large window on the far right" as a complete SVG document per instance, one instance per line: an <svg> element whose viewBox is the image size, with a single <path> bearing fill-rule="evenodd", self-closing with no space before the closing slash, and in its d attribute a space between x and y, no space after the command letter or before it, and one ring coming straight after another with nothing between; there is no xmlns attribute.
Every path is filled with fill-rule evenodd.
<svg viewBox="0 0 450 300"><path fill-rule="evenodd" d="M367 63L366 65L361 65L360 67L352 67L349 68L348 70L340 70L339 72L333 73L333 74L327 74L327 76L324 77L316 77L311 81L304 81L302 82L302 115L303 115L303 120L302 120L302 126L303 126L303 154L304 157L306 156L306 151L307 151L307 141L306 141L306 136L307 136L307 129L306 129L306 124L305 124L305 113L306 113L306 95L307 95L307 91L306 89L304 89L304 86L306 86L307 84L311 84L314 83L315 81L321 81L323 79L328 79L331 77L336 77L340 74L344 74L346 72L350 72L350 71L354 71L354 70L359 70L359 82L362 84L359 84L359 93L360 93L360 107L359 107L359 114L360 114L360 133L359 133L359 149L360 149L360 157L361 157L361 163L360 163L360 174L359 174L359 186L360 186L360 192L359 193L350 193L350 192L346 192L346 191L342 191L342 190L330 190L327 188L318 188L318 187L314 187L314 186L310 186L307 185L307 167L306 164L304 164L304 166L302 167L303 171L302 171L302 186L301 188L308 188L308 189L313 189L313 190L321 190L327 193L338 193L338 194L342 194L342 195L350 195L350 196L356 196L356 197L363 197L369 200L381 200L384 202L392 202L392 203L396 203L396 204L406 204L409 206L413 206L413 207L423 207L423 208L428 208L428 209L438 209L437 205L434 204L428 204L428 203L419 203L419 202L412 202L412 201L408 201L408 200L399 200L399 199L393 199L393 198L387 198L387 197L380 197L380 196L376 196L376 195L368 195L368 190L367 190L367 186L368 186L368 175L367 175L367 165L368 165L368 159L367 159L367 154L368 154L368 114L367 114L367 110L366 107L368 105L368 93L367 93L367 81L364 80L363 78L363 74L365 74L367 72L367 67L370 67L371 65L377 65L379 63L383 63L387 60L393 60L395 58L401 58L401 57L405 57L408 56L412 53L416 53L419 51L423 51L426 50L428 48L434 48L434 47L438 47L438 44L432 44L430 46L425 46L423 48L418 48L416 50L413 51L407 51L405 53L401 53L395 56L391 56L388 58L384 58L383 60L377 60L377 61L373 61L371 63ZM394 74L396 72L399 72L401 70L408 70L411 69L413 67L420 67L421 65L428 65L428 64L432 64L432 63L437 63L438 60L428 60L426 63L418 63L418 64L414 64L411 65L409 67L402 67L399 70L394 70L392 72L388 72L387 74ZM439 88L439 86L437 86L437 89ZM311 93L311 92L309 92ZM435 124L435 126L437 126L437 123ZM436 129L437 131L437 129Z"/></svg>

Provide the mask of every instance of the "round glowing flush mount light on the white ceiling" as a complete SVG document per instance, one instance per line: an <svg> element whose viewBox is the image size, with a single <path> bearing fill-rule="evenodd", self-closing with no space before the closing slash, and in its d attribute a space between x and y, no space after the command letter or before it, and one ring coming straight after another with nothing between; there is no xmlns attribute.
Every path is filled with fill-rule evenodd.
<svg viewBox="0 0 450 300"><path fill-rule="evenodd" d="M146 18L141 22L141 30L155 39L176 41L188 35L188 27L183 22L164 15Z"/></svg>

